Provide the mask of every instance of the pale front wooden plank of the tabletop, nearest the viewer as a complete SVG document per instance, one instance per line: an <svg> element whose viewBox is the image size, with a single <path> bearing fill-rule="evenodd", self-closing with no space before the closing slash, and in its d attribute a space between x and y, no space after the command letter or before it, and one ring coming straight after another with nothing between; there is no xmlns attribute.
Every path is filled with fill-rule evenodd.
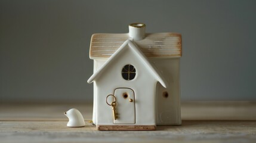
<svg viewBox="0 0 256 143"><path fill-rule="evenodd" d="M256 122L186 121L150 131L98 131L87 123L0 122L0 142L255 142Z"/></svg>

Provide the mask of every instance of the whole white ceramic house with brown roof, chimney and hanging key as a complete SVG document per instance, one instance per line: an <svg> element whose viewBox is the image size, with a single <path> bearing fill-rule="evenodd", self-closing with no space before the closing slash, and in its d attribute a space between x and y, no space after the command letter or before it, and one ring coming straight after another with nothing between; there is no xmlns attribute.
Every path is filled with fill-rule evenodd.
<svg viewBox="0 0 256 143"><path fill-rule="evenodd" d="M92 121L98 130L181 125L181 35L145 29L133 23L129 33L92 35L88 83L94 82Z"/></svg>

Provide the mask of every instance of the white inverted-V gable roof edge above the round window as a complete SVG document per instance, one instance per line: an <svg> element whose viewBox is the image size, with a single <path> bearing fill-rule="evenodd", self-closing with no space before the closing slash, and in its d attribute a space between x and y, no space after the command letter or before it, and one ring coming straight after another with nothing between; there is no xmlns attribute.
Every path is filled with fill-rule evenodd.
<svg viewBox="0 0 256 143"><path fill-rule="evenodd" d="M127 46L129 45L129 46ZM87 80L88 83L93 82L98 75L100 75L104 70L106 69L105 67L109 66L112 64L112 61L115 61L116 55L121 54L122 51L124 51L125 48L129 48L135 55L140 58L140 61L144 63L144 65L147 67L147 69L152 73L153 77L155 77L158 82L161 83L162 86L166 88L166 82L163 80L162 76L157 72L155 67L152 66L152 64L149 63L147 60L146 56L138 49L138 47L132 42L132 41L125 41L118 50L110 56L110 58L106 61L106 63L103 64L103 66L100 67L92 76Z"/></svg>

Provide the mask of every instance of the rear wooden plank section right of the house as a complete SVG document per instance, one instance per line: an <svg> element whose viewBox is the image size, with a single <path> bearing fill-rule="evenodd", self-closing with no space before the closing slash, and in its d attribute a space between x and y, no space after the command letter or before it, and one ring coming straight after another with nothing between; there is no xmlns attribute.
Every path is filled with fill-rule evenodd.
<svg viewBox="0 0 256 143"><path fill-rule="evenodd" d="M182 120L254 120L255 101L181 102Z"/></svg>

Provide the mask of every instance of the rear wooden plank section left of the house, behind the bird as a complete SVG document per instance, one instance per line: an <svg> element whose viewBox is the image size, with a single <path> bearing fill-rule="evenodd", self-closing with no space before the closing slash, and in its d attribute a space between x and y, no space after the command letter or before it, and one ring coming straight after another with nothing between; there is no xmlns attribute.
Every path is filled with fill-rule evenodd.
<svg viewBox="0 0 256 143"><path fill-rule="evenodd" d="M1 103L0 120L66 121L64 112L78 109L85 120L92 119L92 103Z"/></svg>

